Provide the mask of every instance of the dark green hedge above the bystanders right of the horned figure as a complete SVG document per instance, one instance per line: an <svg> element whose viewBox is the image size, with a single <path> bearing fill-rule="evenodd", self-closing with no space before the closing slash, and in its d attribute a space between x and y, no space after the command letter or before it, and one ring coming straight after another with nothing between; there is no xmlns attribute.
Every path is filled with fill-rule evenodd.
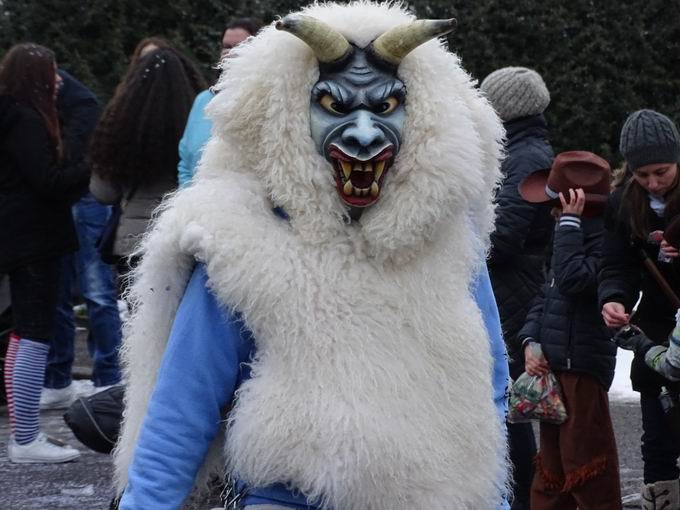
<svg viewBox="0 0 680 510"><path fill-rule="evenodd" d="M663 0L458 0L451 48L480 80L500 67L536 69L550 89L555 148L618 159L626 116L680 113L680 4ZM446 15L446 2L428 11Z"/></svg>

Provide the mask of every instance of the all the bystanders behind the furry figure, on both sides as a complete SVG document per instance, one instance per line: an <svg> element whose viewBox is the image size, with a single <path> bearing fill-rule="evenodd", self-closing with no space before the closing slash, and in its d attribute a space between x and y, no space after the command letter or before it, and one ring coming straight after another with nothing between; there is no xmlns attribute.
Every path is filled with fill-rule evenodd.
<svg viewBox="0 0 680 510"><path fill-rule="evenodd" d="M227 25L221 57L259 28L252 19ZM680 509L680 446L659 398L670 393L677 405L680 390L671 299L680 252L665 235L680 214L677 128L653 110L622 119L624 164L612 176L596 154L555 156L544 117L550 93L537 72L499 69L480 89L506 133L487 263L510 373L552 371L569 414L561 425L541 423L538 450L530 424L507 424L511 508L621 508L607 398L618 345L636 352L643 508ZM4 373L11 462L76 458L40 431L39 410L121 382L125 276L163 197L191 181L213 95L191 59L158 37L139 43L103 109L46 47L18 44L0 63L0 273L15 323ZM87 382L71 374L75 285L89 317Z"/></svg>

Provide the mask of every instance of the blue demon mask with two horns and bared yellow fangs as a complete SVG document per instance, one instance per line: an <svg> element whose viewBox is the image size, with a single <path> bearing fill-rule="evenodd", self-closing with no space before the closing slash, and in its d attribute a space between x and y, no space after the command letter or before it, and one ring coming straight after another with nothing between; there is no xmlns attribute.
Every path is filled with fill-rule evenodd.
<svg viewBox="0 0 680 510"><path fill-rule="evenodd" d="M311 135L319 154L331 163L337 192L351 217L378 200L401 147L406 100L406 86L397 78L401 60L454 27L455 20L413 21L357 48L308 16L290 15L277 22L276 28L306 42L319 61L319 81L310 101Z"/></svg>

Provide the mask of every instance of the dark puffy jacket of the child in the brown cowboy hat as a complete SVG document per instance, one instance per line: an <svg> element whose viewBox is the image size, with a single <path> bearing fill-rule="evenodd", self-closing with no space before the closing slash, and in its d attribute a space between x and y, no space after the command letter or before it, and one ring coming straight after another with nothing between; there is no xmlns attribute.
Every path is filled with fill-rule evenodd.
<svg viewBox="0 0 680 510"><path fill-rule="evenodd" d="M584 218L581 228L560 225L554 235L548 279L519 338L539 342L552 370L593 375L608 390L616 344L597 300L604 220Z"/></svg>

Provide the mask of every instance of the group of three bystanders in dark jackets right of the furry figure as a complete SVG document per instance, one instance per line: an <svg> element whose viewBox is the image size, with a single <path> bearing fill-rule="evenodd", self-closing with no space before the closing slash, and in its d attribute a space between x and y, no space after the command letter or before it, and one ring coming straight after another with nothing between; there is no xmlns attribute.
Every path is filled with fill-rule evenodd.
<svg viewBox="0 0 680 510"><path fill-rule="evenodd" d="M680 289L677 240L664 235L680 213L677 128L653 110L633 112L621 130L624 163L612 176L592 153L553 157L543 117L550 95L535 71L500 69L481 89L507 135L488 264L510 372L553 371L569 413L562 425L541 423L538 454L530 424L508 424L512 508L621 508L607 399L617 344L636 351L643 508L680 508L680 452L659 399L666 388L677 402L677 383L653 370L658 358L645 362L652 346L673 338L678 311L659 279ZM615 336L629 326L637 340ZM668 374L672 359L658 349Z"/></svg>

